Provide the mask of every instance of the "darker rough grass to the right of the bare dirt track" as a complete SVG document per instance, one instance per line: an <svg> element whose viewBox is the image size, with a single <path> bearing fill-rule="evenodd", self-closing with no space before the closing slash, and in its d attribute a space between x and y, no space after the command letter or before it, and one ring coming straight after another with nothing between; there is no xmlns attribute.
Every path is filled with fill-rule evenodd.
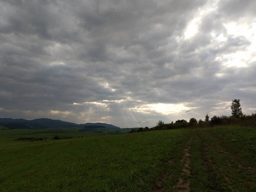
<svg viewBox="0 0 256 192"><path fill-rule="evenodd" d="M256 129L198 129L191 148L191 191L256 191Z"/></svg>

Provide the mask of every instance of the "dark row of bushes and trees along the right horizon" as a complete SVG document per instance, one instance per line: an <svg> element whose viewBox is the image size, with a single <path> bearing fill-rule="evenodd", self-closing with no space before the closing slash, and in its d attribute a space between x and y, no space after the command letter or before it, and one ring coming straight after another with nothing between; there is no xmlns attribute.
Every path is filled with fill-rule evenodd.
<svg viewBox="0 0 256 192"><path fill-rule="evenodd" d="M181 128L200 128L200 127L211 127L215 125L244 125L244 126L256 126L256 113L252 115L243 115L240 99L234 99L231 103L231 116L212 116L205 115L205 120L196 120L196 118L190 118L189 122L187 120L177 120L176 122L165 124L162 120L159 120L156 126L152 128L140 127L139 129L132 129L132 132L143 132L143 131L156 131L156 130L166 130L166 129L181 129Z"/></svg>

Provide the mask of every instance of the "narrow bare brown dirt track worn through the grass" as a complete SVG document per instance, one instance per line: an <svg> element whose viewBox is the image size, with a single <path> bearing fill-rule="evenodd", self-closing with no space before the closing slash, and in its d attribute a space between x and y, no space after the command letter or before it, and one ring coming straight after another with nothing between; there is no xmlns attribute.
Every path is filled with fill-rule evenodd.
<svg viewBox="0 0 256 192"><path fill-rule="evenodd" d="M179 182L175 186L175 191L191 191L190 190L190 148L192 144L193 138L188 141L187 147L184 149L185 155L182 158L182 164L184 167L182 169L182 173L179 178Z"/></svg>

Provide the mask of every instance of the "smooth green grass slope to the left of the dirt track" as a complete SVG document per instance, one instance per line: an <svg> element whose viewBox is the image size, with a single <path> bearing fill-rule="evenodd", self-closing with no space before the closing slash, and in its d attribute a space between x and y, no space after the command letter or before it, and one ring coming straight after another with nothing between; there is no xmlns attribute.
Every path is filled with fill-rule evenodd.
<svg viewBox="0 0 256 192"><path fill-rule="evenodd" d="M175 183L189 137L187 130L176 130L35 142L9 139L0 147L0 191L151 191L164 170L173 173ZM168 159L176 166L166 166Z"/></svg>

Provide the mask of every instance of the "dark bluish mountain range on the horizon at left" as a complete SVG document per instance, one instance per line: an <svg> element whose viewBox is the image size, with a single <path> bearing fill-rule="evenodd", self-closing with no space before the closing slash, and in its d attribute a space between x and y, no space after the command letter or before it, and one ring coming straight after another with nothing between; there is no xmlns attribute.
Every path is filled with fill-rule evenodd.
<svg viewBox="0 0 256 192"><path fill-rule="evenodd" d="M70 122L63 122L61 120L52 120L50 118L38 118L34 120L26 120L23 118L0 118L0 125L9 129L42 129L42 128L65 128L65 127L106 127L111 129L120 129L111 124L104 123L87 123L87 124L74 124Z"/></svg>

